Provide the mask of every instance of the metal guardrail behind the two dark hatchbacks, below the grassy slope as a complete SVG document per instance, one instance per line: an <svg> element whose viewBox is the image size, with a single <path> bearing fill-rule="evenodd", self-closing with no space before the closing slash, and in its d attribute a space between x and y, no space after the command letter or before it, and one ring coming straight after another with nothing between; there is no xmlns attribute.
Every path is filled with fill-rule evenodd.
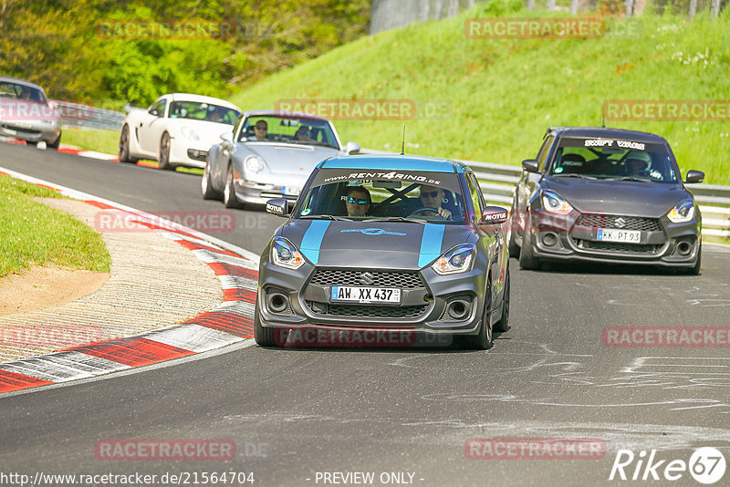
<svg viewBox="0 0 730 487"><path fill-rule="evenodd" d="M367 154L391 154L384 150L360 150ZM464 161L474 171L487 202L509 207L517 181L522 174L519 166L492 162ZM714 237L730 237L730 186L716 184L687 184L702 212L702 233Z"/></svg>

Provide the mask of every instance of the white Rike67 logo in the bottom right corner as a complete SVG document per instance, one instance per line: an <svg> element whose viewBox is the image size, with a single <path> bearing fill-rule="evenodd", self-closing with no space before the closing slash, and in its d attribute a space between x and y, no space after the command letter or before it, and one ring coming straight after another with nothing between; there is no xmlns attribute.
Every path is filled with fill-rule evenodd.
<svg viewBox="0 0 730 487"><path fill-rule="evenodd" d="M652 450L635 455L631 450L619 450L610 469L612 481L678 481L689 471L692 478L705 485L718 482L725 475L725 456L712 447L698 448L689 461L660 459Z"/></svg>

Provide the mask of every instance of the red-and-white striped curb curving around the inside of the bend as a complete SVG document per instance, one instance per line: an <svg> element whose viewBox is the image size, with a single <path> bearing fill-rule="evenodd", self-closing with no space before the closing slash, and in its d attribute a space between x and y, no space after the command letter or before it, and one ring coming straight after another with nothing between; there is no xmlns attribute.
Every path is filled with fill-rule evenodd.
<svg viewBox="0 0 730 487"><path fill-rule="evenodd" d="M224 293L224 302L219 306L178 325L0 363L0 393L93 378L172 358L188 357L253 337L258 255L177 223L166 222L158 216L88 193L3 168L0 168L0 174L46 186L102 209L123 212L126 221L148 226L183 245L208 264L221 281ZM160 226L161 223L165 226Z"/></svg>

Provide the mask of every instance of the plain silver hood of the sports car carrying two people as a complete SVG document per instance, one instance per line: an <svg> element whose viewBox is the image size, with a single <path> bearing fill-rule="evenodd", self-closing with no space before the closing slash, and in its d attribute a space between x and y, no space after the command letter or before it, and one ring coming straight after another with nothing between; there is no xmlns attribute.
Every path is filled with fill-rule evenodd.
<svg viewBox="0 0 730 487"><path fill-rule="evenodd" d="M240 148L236 150L238 159L245 159L251 154L258 156L265 163L264 171L270 174L302 172L308 176L319 162L341 154L339 150L331 147L287 143L242 142L238 147Z"/></svg>

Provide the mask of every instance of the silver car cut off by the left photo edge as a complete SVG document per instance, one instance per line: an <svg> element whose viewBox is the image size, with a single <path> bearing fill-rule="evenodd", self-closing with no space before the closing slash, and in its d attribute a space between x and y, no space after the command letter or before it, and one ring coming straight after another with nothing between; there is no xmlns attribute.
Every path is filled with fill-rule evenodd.
<svg viewBox="0 0 730 487"><path fill-rule="evenodd" d="M61 115L38 85L18 78L0 77L0 136L46 142L48 149L61 143Z"/></svg>

